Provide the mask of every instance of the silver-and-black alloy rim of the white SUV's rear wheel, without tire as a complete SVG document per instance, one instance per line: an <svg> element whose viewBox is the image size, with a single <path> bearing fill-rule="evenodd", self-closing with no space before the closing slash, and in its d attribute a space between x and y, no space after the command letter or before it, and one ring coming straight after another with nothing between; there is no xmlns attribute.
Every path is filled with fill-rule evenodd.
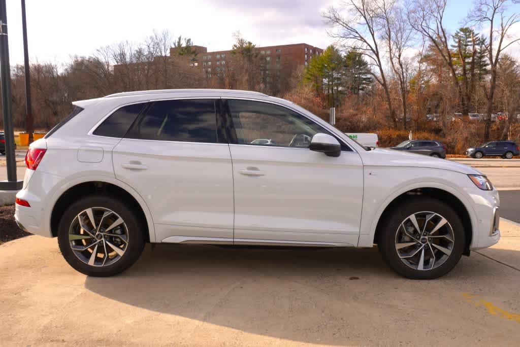
<svg viewBox="0 0 520 347"><path fill-rule="evenodd" d="M128 248L128 228L108 208L87 208L72 221L69 243L74 255L85 264L108 266L121 259Z"/></svg>

